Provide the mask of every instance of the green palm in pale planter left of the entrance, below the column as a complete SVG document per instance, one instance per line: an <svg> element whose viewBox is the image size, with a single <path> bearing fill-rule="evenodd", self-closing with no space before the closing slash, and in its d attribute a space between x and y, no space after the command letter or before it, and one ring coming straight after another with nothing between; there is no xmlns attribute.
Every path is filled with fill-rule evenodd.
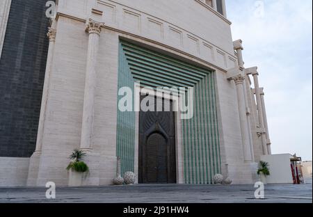
<svg viewBox="0 0 313 217"><path fill-rule="evenodd" d="M75 149L69 156L71 162L67 166L69 173L68 185L69 186L81 186L83 182L83 177L89 171L89 168L85 162L83 162L83 157L86 153L83 150Z"/></svg>

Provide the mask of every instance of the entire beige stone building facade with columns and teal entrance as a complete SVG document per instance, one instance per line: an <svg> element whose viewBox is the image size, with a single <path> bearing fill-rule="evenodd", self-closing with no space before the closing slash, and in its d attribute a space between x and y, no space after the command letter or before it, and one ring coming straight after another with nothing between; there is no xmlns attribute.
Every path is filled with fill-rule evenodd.
<svg viewBox="0 0 313 217"><path fill-rule="evenodd" d="M26 54L21 46L15 51L33 72L31 78L39 78L16 84L13 77L1 89L1 104L12 109L0 107L1 134L11 129L8 138L1 136L0 185L45 186L51 181L66 186L67 156L74 148L88 153L90 173L83 185L112 184L118 158L122 172L135 172L138 183L212 184L218 173L234 184L256 181L256 162L271 154L264 90L257 67L243 65L242 42L232 40L224 0L58 0L49 26L42 17L45 10L39 10L42 1L38 23L32 23L33 38L18 39L10 23L18 22L15 11L23 1L2 2L1 82L10 74L6 63L16 67L18 60L10 56L11 40L24 45L31 40L37 47L36 54L35 49ZM48 27L49 48L42 33ZM22 97L34 108L24 105L20 117L14 104L18 95L10 94L13 84L36 88L35 94L40 90L40 97L32 95L35 99ZM145 86L192 87L193 118L182 120L173 111L120 111L119 90L125 86L134 97L144 95ZM163 95L163 100L178 104L181 99ZM27 127L30 116L38 129ZM36 143L18 138L15 120L24 123L21 134L31 131L26 138ZM17 147L26 154L10 152Z"/></svg>

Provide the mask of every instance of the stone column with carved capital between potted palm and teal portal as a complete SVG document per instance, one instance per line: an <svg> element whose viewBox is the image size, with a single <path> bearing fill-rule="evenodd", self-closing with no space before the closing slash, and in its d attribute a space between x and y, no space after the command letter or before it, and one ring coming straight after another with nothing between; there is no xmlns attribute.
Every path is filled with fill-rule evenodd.
<svg viewBox="0 0 313 217"><path fill-rule="evenodd" d="M99 36L103 23L88 19L86 33L89 34L86 66L85 95L83 100L83 121L81 127L81 150L93 149L91 139L93 136L93 119L95 106L95 87L97 83L96 63L99 46Z"/></svg>

